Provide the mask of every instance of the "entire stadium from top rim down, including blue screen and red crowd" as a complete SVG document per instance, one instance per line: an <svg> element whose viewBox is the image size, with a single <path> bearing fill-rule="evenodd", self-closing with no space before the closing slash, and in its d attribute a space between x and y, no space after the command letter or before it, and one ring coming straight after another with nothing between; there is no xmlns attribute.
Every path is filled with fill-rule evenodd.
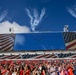
<svg viewBox="0 0 76 75"><path fill-rule="evenodd" d="M75 65L76 32L0 34L2 75L42 75L43 71L58 75L60 67L62 71L72 69L75 75ZM51 70L53 66L56 68ZM68 70L63 73L72 75Z"/></svg>

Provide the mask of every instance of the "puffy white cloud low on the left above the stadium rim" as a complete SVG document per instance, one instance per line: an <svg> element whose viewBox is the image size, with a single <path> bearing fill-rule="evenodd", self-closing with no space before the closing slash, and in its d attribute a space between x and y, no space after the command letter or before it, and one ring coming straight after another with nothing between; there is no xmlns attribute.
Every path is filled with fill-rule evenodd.
<svg viewBox="0 0 76 75"><path fill-rule="evenodd" d="M27 26L21 26L16 22L4 21L0 23L0 34L10 33L9 28L13 28L14 33L28 33L30 29Z"/></svg>

